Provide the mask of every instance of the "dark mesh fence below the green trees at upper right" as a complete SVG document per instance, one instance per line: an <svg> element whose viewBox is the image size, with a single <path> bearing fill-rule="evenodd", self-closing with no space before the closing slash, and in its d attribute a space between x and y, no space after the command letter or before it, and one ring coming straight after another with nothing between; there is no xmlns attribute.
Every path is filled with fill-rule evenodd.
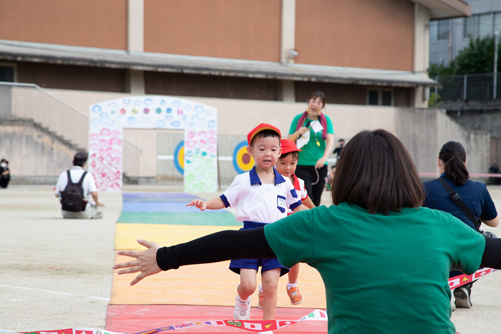
<svg viewBox="0 0 501 334"><path fill-rule="evenodd" d="M434 93L440 97L438 101L487 101L493 96L501 98L501 85L497 85L493 93L494 74L464 74L456 76L436 76L442 88L435 88ZM501 74L497 74L497 82L501 83Z"/></svg>

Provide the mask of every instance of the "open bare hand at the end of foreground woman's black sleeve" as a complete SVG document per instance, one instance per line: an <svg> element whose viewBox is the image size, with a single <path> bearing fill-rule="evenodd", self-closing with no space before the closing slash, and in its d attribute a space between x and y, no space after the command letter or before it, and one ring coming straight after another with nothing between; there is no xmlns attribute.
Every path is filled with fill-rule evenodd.
<svg viewBox="0 0 501 334"><path fill-rule="evenodd" d="M130 282L130 285L136 284L146 276L153 275L162 271L162 269L160 269L160 267L156 262L156 252L158 248L160 248L160 246L154 242L147 240L137 239L137 242L145 247L148 247L148 249L143 251L119 250L117 252L118 255L135 257L136 259L128 262L115 264L113 266L113 269L127 268L124 270L118 270L117 273L119 275L131 274L134 272L141 271L141 273L137 275L136 278L132 280L132 282Z"/></svg>

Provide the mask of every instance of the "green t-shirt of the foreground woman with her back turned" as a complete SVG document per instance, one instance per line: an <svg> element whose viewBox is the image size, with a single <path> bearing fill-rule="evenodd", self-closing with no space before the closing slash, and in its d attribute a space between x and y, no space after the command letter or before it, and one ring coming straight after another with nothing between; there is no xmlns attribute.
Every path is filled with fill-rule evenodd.
<svg viewBox="0 0 501 334"><path fill-rule="evenodd" d="M369 214L348 203L301 211L265 226L280 262L316 268L329 334L454 333L449 270L473 273L485 239L428 208Z"/></svg>

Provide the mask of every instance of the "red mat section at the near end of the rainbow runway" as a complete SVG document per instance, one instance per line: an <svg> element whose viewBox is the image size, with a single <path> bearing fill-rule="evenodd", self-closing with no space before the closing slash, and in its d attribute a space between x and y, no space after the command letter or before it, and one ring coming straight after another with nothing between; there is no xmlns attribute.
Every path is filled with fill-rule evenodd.
<svg viewBox="0 0 501 334"><path fill-rule="evenodd" d="M298 320L310 313L309 308L277 308L275 319ZM195 305L109 305L106 316L106 329L110 331L135 333L183 322L226 320L233 318L233 307L227 306L195 306ZM262 320L263 310L257 307L250 309L251 320ZM234 333L245 334L252 331L232 327L198 326L179 330L168 330L165 333ZM327 321L301 321L274 333L289 334L325 334ZM256 333L256 332L255 332Z"/></svg>

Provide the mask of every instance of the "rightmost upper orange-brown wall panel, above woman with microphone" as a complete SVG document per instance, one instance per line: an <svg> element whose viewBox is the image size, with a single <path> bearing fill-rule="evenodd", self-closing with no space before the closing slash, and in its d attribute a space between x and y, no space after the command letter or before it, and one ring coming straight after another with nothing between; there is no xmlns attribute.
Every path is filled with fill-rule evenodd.
<svg viewBox="0 0 501 334"><path fill-rule="evenodd" d="M296 63L412 71L414 3L296 0Z"/></svg>

